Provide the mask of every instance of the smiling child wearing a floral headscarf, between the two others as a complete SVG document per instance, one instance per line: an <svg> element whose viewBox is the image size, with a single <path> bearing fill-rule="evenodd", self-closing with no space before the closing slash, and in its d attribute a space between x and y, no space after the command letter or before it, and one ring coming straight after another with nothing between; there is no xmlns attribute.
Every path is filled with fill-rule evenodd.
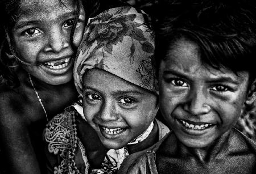
<svg viewBox="0 0 256 174"><path fill-rule="evenodd" d="M169 131L154 119L154 40L146 19L133 7L106 10L90 19L74 68L84 116L75 105L47 125L48 173L116 173L125 156ZM97 135L90 137L93 132ZM87 152L96 140L104 148L92 158Z"/></svg>

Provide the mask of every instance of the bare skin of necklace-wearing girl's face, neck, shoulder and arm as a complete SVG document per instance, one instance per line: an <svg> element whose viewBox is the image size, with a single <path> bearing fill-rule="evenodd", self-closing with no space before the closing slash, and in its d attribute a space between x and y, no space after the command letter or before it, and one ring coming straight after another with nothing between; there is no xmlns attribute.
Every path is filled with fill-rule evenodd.
<svg viewBox="0 0 256 174"><path fill-rule="evenodd" d="M36 64L16 69L20 86L0 87L0 141L6 169L10 173L40 173L44 168L42 133L46 116L35 95L28 73L46 108L48 118L76 100L72 80L72 61L62 70L49 70L42 63L75 56L69 33L75 14L72 1L22 1L13 29L14 49L20 60ZM84 30L83 14L75 32L78 45ZM13 58L13 55L9 55ZM39 166L41 165L41 166ZM44 171L42 170L44 173Z"/></svg>

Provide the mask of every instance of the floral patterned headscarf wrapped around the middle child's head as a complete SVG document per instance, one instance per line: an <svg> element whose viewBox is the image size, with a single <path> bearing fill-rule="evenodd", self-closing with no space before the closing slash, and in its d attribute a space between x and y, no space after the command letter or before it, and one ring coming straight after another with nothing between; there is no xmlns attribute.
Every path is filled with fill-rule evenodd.
<svg viewBox="0 0 256 174"><path fill-rule="evenodd" d="M157 93L151 63L154 37L145 24L146 18L133 7L117 7L89 19L74 67L80 94L82 76L94 67Z"/></svg>

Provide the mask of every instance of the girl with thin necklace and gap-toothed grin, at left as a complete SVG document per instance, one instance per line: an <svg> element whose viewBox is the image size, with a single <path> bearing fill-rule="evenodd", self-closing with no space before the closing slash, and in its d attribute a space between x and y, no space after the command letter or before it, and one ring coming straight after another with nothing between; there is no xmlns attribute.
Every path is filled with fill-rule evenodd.
<svg viewBox="0 0 256 174"><path fill-rule="evenodd" d="M1 1L0 146L10 173L40 173L44 166L43 129L77 99L76 47L86 19L103 6L97 0Z"/></svg>

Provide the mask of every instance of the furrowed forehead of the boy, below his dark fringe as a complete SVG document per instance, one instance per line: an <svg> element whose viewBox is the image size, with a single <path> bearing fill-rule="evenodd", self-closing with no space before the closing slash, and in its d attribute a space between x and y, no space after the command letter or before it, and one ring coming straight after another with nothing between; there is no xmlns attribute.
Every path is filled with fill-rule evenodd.
<svg viewBox="0 0 256 174"><path fill-rule="evenodd" d="M249 78L245 71L235 74L229 69L214 69L211 66L203 65L200 57L200 49L196 43L181 38L175 41L161 63L163 71L175 71L191 78L229 78L234 81L243 81Z"/></svg>

